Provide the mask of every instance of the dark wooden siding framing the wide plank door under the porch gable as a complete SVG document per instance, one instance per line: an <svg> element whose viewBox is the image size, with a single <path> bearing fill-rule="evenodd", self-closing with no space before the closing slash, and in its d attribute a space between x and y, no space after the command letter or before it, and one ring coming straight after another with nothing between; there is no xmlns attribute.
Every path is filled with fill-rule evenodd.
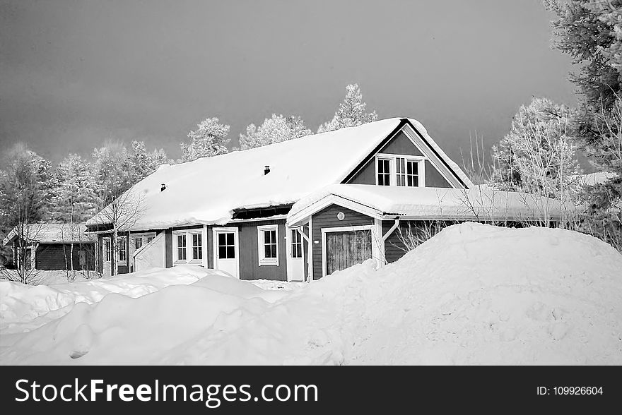
<svg viewBox="0 0 622 415"><path fill-rule="evenodd" d="M344 212L344 220L337 219L337 213ZM374 219L339 205L330 205L311 217L313 244L313 279L322 278L322 229L374 224ZM317 243L315 243L317 241Z"/></svg>

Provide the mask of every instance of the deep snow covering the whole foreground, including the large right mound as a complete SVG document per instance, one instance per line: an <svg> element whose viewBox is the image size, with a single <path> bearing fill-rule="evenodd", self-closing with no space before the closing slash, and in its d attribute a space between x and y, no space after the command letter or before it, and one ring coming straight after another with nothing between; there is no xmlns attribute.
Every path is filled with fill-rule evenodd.
<svg viewBox="0 0 622 415"><path fill-rule="evenodd" d="M460 224L306 286L198 267L98 281L2 282L0 362L622 364L622 255L562 229Z"/></svg>

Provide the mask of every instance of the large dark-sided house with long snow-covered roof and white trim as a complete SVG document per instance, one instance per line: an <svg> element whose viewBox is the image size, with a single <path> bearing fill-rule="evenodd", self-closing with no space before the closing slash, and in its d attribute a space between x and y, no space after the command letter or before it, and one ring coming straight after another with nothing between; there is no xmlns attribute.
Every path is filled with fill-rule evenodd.
<svg viewBox="0 0 622 415"><path fill-rule="evenodd" d="M106 215L87 222L105 275L116 261L119 272L196 264L241 279L319 279L397 260L406 224L561 215L556 200L474 186L406 118L165 165L129 192L143 215L121 229L117 255Z"/></svg>

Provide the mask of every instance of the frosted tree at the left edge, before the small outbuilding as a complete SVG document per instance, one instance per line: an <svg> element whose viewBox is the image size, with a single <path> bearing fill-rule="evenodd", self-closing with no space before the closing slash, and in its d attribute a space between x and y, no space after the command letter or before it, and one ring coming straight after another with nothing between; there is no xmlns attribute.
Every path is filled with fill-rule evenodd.
<svg viewBox="0 0 622 415"><path fill-rule="evenodd" d="M30 263L30 241L36 239L38 227L48 214L52 199L50 164L43 157L18 144L6 153L4 171L0 174L0 219L4 235L16 229L16 251L13 270L4 277L23 284L37 282L37 271ZM6 260L6 258L4 258Z"/></svg>

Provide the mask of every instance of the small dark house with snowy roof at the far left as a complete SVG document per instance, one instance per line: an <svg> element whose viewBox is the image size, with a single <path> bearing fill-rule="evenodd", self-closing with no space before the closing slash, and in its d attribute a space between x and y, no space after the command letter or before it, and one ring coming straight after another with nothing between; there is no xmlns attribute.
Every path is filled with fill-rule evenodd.
<svg viewBox="0 0 622 415"><path fill-rule="evenodd" d="M95 270L95 238L85 231L86 224L25 224L21 231L13 228L2 243L11 244L16 266L25 255L35 270ZM20 234L26 236L22 241Z"/></svg>

